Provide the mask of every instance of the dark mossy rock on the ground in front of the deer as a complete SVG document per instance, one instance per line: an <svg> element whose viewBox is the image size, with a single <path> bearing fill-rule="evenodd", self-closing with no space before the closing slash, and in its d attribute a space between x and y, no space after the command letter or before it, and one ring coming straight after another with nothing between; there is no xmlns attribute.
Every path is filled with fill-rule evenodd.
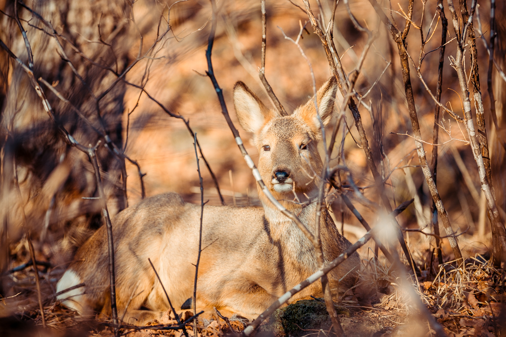
<svg viewBox="0 0 506 337"><path fill-rule="evenodd" d="M334 304L338 314L349 316L349 310ZM257 335L300 336L305 330L328 330L331 322L323 299L301 300L274 312L268 324Z"/></svg>

